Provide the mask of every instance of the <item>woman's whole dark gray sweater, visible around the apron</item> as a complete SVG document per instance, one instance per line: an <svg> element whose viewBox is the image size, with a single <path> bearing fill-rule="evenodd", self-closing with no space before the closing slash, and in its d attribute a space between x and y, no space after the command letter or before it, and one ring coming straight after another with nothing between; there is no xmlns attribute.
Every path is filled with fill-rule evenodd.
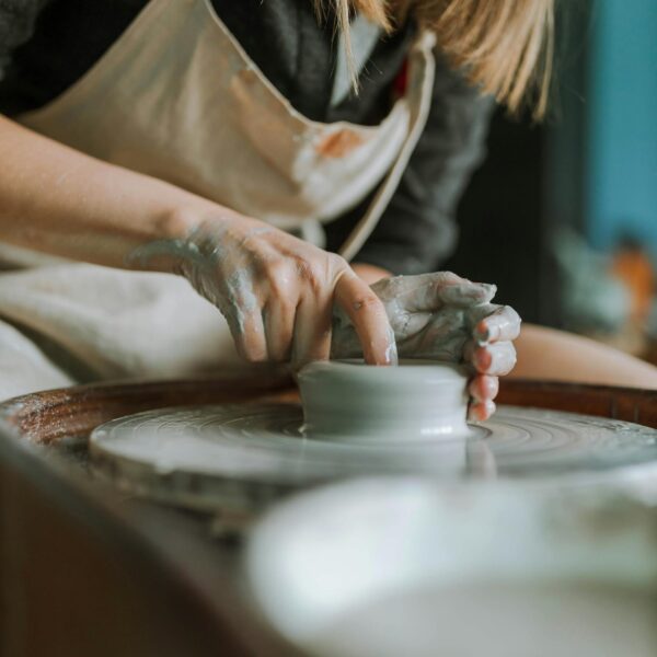
<svg viewBox="0 0 657 657"><path fill-rule="evenodd" d="M203 0L197 0L203 1ZM331 104L336 44L332 16L318 24L311 0L212 0L217 13L272 83L314 120L374 124L415 34L412 22L381 38L360 73L360 93ZM0 0L0 112L41 107L78 80L147 0ZM399 274L439 266L457 239L459 197L483 157L489 99L437 55L429 120L379 226L357 256ZM326 226L337 250L369 199Z"/></svg>

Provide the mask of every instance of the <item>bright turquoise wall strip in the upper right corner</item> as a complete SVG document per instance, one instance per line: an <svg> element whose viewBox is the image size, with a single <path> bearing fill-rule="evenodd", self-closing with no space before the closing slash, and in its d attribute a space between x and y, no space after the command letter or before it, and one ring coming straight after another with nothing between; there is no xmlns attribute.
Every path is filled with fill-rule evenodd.
<svg viewBox="0 0 657 657"><path fill-rule="evenodd" d="M587 231L657 246L657 0L596 0L588 95Z"/></svg>

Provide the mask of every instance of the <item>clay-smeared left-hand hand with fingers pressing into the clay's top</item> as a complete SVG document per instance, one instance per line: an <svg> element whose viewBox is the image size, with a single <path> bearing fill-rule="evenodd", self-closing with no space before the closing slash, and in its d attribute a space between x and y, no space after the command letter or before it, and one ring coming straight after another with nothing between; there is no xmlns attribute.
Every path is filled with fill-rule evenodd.
<svg viewBox="0 0 657 657"><path fill-rule="evenodd" d="M334 304L355 326L367 362L396 361L385 308L347 262L261 221L210 217L128 260L141 267L158 260L158 268L185 276L226 316L250 361L328 358Z"/></svg>

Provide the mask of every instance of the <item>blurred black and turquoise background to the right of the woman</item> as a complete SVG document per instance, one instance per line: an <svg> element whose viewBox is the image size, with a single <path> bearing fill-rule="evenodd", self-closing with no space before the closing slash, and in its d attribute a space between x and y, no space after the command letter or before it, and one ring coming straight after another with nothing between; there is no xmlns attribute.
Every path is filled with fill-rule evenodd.
<svg viewBox="0 0 657 657"><path fill-rule="evenodd" d="M657 1L558 7L551 114L497 113L442 267L657 364Z"/></svg>

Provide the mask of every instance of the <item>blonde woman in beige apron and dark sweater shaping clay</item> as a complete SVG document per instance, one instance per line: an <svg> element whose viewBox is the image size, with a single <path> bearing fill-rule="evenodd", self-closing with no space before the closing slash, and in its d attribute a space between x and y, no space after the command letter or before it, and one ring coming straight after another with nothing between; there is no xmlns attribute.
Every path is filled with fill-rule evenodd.
<svg viewBox="0 0 657 657"><path fill-rule="evenodd" d="M544 111L551 0L0 0L0 239L21 249L0 396L216 368L203 297L247 360L465 359L472 416L493 412L519 319L423 272L491 97Z"/></svg>

